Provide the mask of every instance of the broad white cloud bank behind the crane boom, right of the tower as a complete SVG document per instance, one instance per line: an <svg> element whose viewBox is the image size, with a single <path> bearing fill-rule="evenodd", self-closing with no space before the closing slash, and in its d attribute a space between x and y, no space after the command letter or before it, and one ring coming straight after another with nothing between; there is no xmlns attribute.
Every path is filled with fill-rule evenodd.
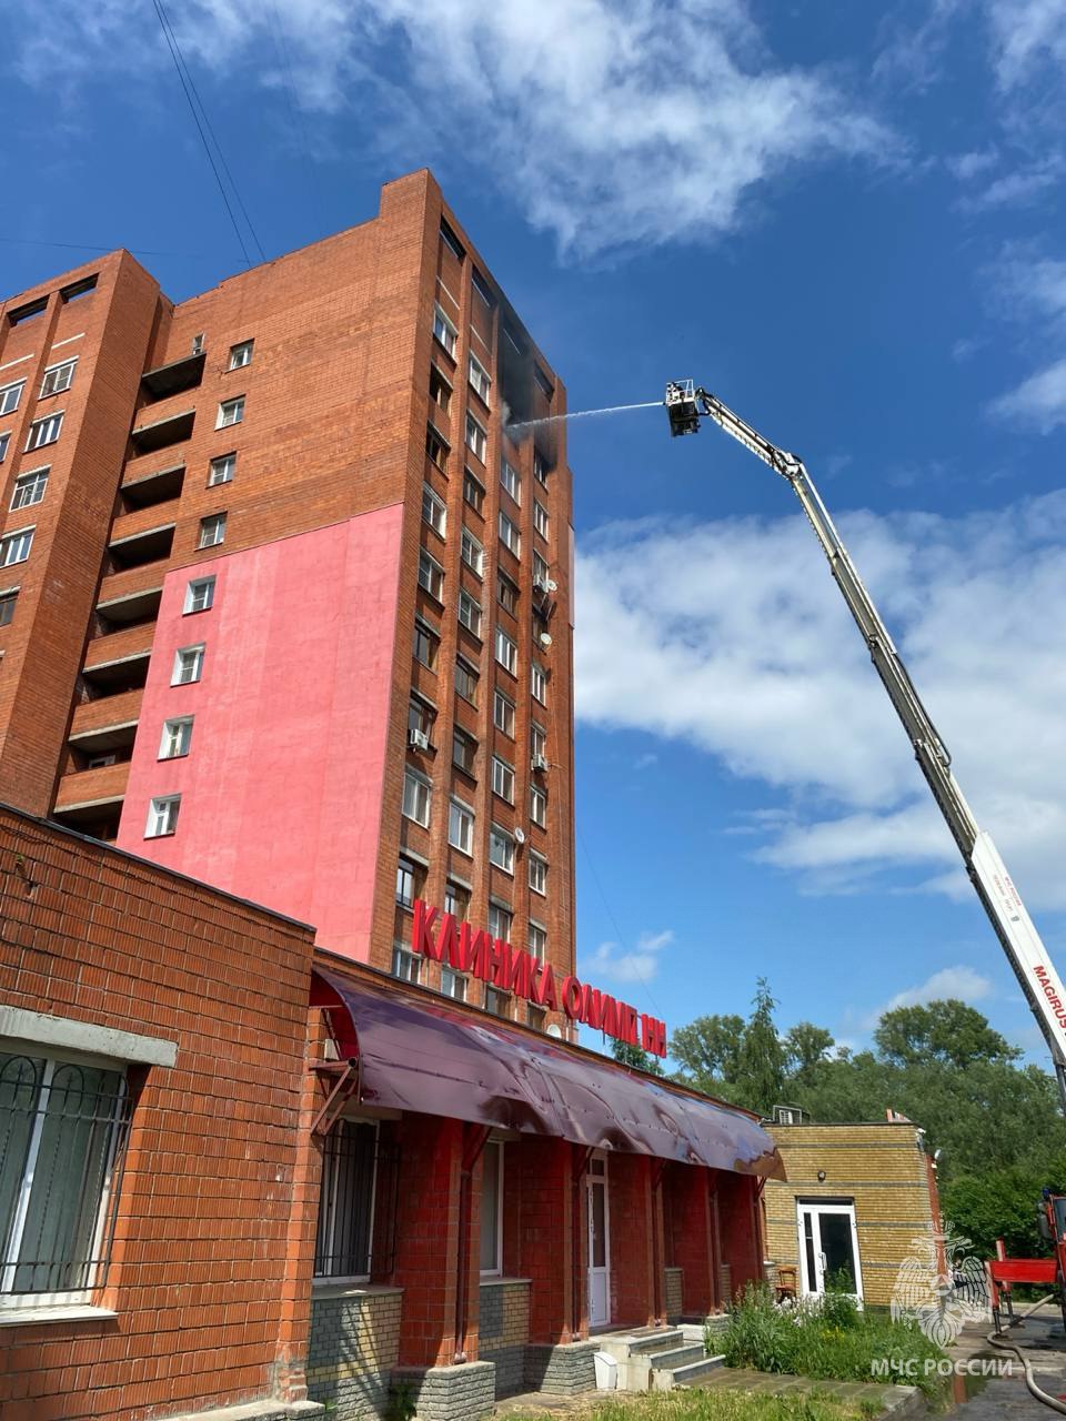
<svg viewBox="0 0 1066 1421"><path fill-rule="evenodd" d="M1033 907L1066 907L1066 490L840 527L979 821ZM768 786L768 813L738 831L804 890L893 868L959 892L955 845L799 513L586 539L576 696L586 725L685 742Z"/></svg>

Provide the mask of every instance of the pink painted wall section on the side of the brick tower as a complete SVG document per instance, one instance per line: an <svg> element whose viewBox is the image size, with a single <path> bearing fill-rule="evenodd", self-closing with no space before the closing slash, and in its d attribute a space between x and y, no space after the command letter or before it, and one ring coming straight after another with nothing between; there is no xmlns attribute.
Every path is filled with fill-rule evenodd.
<svg viewBox="0 0 1066 1421"><path fill-rule="evenodd" d="M168 574L118 844L313 924L367 959L392 675L402 506ZM183 615L215 574L210 611ZM205 642L203 676L172 686ZM188 757L163 722L195 716ZM145 838L154 796L178 831Z"/></svg>

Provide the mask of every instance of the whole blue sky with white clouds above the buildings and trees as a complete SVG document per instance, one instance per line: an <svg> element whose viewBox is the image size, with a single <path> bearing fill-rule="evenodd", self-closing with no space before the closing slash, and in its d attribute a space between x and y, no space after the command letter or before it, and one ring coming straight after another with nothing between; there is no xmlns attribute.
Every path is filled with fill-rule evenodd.
<svg viewBox="0 0 1066 1421"><path fill-rule="evenodd" d="M267 256L429 165L573 409L692 375L799 452L1066 958L1063 0L192 0ZM242 253L151 7L7 16L3 288ZM246 237L254 250L252 237ZM578 956L672 1026L861 1044L961 995L1043 1059L789 489L658 411L571 425Z"/></svg>

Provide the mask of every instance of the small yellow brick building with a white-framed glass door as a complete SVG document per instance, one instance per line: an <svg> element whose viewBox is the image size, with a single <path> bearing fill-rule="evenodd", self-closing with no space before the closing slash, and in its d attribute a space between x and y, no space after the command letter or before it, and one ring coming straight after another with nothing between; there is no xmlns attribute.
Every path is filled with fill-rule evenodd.
<svg viewBox="0 0 1066 1421"><path fill-rule="evenodd" d="M918 1252L914 1241L928 1248L940 1229L922 1131L895 1121L769 1128L787 1182L766 1181L766 1258L796 1270L800 1296L823 1292L836 1275L850 1277L867 1306L887 1307L900 1266Z"/></svg>

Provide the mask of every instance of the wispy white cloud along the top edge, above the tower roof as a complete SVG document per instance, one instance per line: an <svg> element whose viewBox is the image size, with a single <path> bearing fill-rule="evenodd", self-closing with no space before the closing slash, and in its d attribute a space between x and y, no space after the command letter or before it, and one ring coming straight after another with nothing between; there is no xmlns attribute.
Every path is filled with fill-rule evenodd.
<svg viewBox="0 0 1066 1421"><path fill-rule="evenodd" d="M190 61L270 87L280 20L301 104L358 105L394 149L445 153L446 115L578 254L711 237L797 163L897 149L839 77L777 64L748 0L198 0L172 18ZM55 0L21 71L48 85L72 68L144 72L146 23L134 0Z"/></svg>

